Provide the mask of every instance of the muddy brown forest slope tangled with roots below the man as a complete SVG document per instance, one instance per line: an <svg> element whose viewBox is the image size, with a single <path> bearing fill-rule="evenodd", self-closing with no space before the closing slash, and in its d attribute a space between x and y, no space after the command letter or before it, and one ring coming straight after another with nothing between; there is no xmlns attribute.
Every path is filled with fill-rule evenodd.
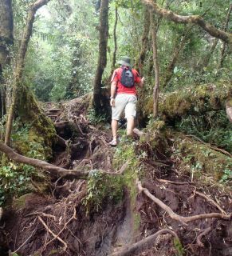
<svg viewBox="0 0 232 256"><path fill-rule="evenodd" d="M180 170L180 159L171 157L175 138L167 136L166 144L152 147L140 138L124 140L117 148L108 146L110 130L92 126L86 118L86 107L80 100L63 103L59 108L47 106L46 113L57 128L59 145L54 149L53 164L66 169L105 170L115 173L113 164L116 150L123 145L134 147L137 158L141 152L142 186L169 206L179 216L232 212L231 190L203 178L192 180L191 174ZM103 128L104 127L104 128ZM129 159L125 156L122 162ZM118 166L117 170L120 170ZM94 172L92 172L94 175ZM124 174L121 174L124 175ZM168 210L148 198L138 183L133 199L132 187L124 186L120 201L110 196L103 202L88 205L89 182L48 175L46 191L29 193L15 200L1 221L0 241L11 255L232 255L231 218L199 218L182 222L171 218ZM99 188L99 187L97 187ZM111 193L111 192L109 192ZM96 196L96 194L95 194ZM100 196L100 194L99 194ZM97 198L93 197L93 200ZM152 242L126 252L124 246L144 241L159 230ZM3 247L2 247L3 248ZM122 250L122 252L119 252ZM2 251L1 256L4 253Z"/></svg>

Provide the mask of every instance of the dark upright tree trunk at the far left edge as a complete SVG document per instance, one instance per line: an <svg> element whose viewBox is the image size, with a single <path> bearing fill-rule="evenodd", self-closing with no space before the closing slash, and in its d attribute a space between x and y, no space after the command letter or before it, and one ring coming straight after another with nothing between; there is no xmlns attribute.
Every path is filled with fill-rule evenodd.
<svg viewBox="0 0 232 256"><path fill-rule="evenodd" d="M0 118L6 114L6 86L2 70L10 64L9 47L13 43L13 14L11 0L0 0Z"/></svg>

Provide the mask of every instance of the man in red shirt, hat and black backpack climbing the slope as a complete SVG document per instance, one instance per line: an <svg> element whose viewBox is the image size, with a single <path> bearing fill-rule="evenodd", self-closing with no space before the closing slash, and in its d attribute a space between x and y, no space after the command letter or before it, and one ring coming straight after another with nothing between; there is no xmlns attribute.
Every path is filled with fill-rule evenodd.
<svg viewBox="0 0 232 256"><path fill-rule="evenodd" d="M131 59L122 57L121 66L112 74L110 106L112 106L112 142L111 146L117 145L117 129L120 116L125 112L127 119L127 135L133 134L136 118L137 91L136 86L144 86L144 78L140 78L139 73L132 69Z"/></svg>

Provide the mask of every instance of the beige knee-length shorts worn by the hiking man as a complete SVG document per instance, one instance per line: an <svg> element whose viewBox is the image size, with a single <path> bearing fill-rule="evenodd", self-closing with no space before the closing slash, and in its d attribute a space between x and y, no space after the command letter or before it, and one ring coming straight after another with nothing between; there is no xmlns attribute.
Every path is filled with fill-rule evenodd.
<svg viewBox="0 0 232 256"><path fill-rule="evenodd" d="M125 112L125 118L136 118L137 97L134 94L118 94L115 98L115 106L112 106L112 120L120 120Z"/></svg>

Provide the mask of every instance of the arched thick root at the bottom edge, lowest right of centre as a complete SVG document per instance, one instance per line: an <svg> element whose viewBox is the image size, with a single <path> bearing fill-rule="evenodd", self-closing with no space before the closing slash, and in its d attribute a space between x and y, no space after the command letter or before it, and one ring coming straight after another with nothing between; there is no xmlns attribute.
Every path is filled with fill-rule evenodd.
<svg viewBox="0 0 232 256"><path fill-rule="evenodd" d="M139 242L133 243L131 246L125 246L124 249L120 251L116 251L115 253L109 254L109 256L129 256L129 255L135 255L139 251L143 250L146 246L152 246L154 239L158 237L159 234L171 234L176 239L179 240L178 235L172 231L172 230L159 230L155 234L151 234L147 238L144 238L143 240L140 240Z"/></svg>

